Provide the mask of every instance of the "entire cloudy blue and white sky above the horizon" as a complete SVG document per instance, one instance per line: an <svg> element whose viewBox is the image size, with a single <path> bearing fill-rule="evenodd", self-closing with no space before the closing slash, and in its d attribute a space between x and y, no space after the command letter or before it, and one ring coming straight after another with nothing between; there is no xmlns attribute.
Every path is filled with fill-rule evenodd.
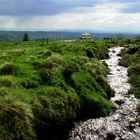
<svg viewBox="0 0 140 140"><path fill-rule="evenodd" d="M140 0L0 0L0 29L140 33Z"/></svg>

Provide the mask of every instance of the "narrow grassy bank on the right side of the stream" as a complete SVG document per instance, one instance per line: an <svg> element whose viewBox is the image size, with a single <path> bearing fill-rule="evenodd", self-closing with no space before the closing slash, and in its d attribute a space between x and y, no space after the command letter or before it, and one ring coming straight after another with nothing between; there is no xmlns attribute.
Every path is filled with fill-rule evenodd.
<svg viewBox="0 0 140 140"><path fill-rule="evenodd" d="M130 93L140 98L140 39L131 40L132 45L122 51L120 64L128 67L132 88Z"/></svg>

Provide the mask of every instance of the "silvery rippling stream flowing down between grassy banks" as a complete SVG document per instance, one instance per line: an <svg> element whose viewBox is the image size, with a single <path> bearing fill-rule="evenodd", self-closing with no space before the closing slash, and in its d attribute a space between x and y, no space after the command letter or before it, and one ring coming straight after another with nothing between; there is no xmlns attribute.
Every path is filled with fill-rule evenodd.
<svg viewBox="0 0 140 140"><path fill-rule="evenodd" d="M140 140L140 126L136 122L139 115L136 105L140 100L128 94L127 68L118 65L122 48L110 48L110 58L105 60L110 69L109 84L115 90L115 97L111 100L117 110L107 117L75 123L69 140Z"/></svg>

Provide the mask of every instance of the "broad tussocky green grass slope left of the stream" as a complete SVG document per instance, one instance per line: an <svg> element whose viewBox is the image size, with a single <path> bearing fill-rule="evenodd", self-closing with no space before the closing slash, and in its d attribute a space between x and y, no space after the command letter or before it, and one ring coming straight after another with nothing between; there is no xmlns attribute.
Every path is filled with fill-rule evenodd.
<svg viewBox="0 0 140 140"><path fill-rule="evenodd" d="M107 57L102 40L0 43L0 139L49 139L75 118L107 115Z"/></svg>

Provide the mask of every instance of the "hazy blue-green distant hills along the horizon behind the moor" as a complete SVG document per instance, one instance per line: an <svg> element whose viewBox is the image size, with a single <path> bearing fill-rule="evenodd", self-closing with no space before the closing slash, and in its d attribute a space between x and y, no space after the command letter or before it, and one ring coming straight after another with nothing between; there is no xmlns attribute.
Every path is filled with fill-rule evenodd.
<svg viewBox="0 0 140 140"><path fill-rule="evenodd" d="M82 32L63 32L63 31L28 31L29 37L35 39L74 39L78 38ZM97 38L116 37L113 33L91 33ZM24 31L0 31L0 42L13 42L22 40ZM136 34L124 34L125 37L135 37Z"/></svg>

